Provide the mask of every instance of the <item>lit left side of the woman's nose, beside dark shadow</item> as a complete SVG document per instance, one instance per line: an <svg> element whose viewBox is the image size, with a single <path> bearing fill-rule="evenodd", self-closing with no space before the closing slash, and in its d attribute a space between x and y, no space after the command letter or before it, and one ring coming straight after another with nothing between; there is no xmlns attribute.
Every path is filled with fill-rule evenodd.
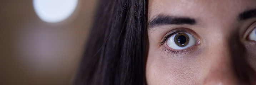
<svg viewBox="0 0 256 85"><path fill-rule="evenodd" d="M209 51L212 55L208 56L209 72L204 80L204 85L235 85L237 77L234 71L232 53L229 40L220 37L214 44L211 44Z"/></svg>

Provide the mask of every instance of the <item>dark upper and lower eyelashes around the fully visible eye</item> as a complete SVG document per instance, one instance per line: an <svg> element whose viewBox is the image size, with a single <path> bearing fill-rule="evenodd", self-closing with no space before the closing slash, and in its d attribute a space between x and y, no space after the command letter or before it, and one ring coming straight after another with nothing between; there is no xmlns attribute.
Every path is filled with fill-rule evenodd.
<svg viewBox="0 0 256 85"><path fill-rule="evenodd" d="M167 36L164 36L163 37L163 40L161 42L159 42L161 45L159 47L161 47L162 45L165 44L165 42L167 41L168 38L170 38L172 35L176 34L176 33L189 33L191 34L190 32L187 32L185 30L181 30L181 29L177 29L177 30L174 30L172 33L170 33L169 35ZM184 54L184 53L188 53L190 51L190 49L185 49L185 50L180 50L180 51L174 51L174 50L171 50L167 47L163 47L162 51L165 51L167 52L167 55L169 55L169 53L171 53L172 55L177 55L177 54ZM164 52L164 53L165 53Z"/></svg>

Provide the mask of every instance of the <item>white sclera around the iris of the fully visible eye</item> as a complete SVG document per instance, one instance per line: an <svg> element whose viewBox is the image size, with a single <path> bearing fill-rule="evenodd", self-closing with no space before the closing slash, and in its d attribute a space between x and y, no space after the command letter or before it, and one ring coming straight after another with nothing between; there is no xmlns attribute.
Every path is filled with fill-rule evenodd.
<svg viewBox="0 0 256 85"><path fill-rule="evenodd" d="M186 33L186 34L189 36L189 43L188 43L186 46L180 47L180 46L178 46L178 45L175 43L174 38L175 38L175 36L176 36L177 34L172 35L172 36L167 40L167 43L166 43L166 44L167 44L169 47L171 47L172 49L176 49L176 50L186 49L186 48L188 48L188 47L191 47L191 46L195 45L195 44L196 44L196 39L194 38L194 36L192 36L191 34L188 34L188 33Z"/></svg>

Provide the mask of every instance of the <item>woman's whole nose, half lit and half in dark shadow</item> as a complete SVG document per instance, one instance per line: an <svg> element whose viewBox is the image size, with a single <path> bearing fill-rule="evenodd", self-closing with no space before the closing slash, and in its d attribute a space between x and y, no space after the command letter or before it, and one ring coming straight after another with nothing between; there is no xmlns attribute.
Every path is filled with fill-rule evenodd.
<svg viewBox="0 0 256 85"><path fill-rule="evenodd" d="M210 46L209 72L204 84L241 85L250 84L252 69L247 64L245 47L239 37L221 37ZM255 74L254 74L255 75Z"/></svg>

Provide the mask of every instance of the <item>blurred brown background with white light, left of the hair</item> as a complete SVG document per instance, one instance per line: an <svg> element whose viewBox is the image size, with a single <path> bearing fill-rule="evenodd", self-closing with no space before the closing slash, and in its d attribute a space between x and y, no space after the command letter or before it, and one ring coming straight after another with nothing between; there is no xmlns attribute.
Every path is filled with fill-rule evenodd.
<svg viewBox="0 0 256 85"><path fill-rule="evenodd" d="M97 0L0 0L0 85L70 85Z"/></svg>

